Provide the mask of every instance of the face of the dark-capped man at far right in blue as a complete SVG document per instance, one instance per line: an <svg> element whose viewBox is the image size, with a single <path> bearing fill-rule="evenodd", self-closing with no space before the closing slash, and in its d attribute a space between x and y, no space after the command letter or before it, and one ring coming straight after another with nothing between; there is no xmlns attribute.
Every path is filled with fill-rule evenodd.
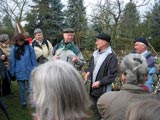
<svg viewBox="0 0 160 120"><path fill-rule="evenodd" d="M145 44L141 43L141 42L135 42L134 43L134 49L135 49L135 52L137 53L143 53L144 51L147 50L147 47Z"/></svg>

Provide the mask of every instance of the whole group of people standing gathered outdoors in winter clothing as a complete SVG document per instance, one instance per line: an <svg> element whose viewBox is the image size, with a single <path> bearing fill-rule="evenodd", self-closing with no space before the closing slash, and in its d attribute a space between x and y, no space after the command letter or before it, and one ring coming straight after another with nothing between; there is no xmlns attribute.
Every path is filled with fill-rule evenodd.
<svg viewBox="0 0 160 120"><path fill-rule="evenodd" d="M120 64L121 90L112 91L112 83L118 74L118 60L111 48L109 34L96 36L97 49L90 58L84 80L78 70L86 61L73 42L73 29L64 29L64 39L54 47L44 38L41 29L35 29L34 37L29 43L24 34L17 34L10 54L2 50L0 60L9 61L10 67L6 70L18 82L23 108L27 106L28 88L35 107L35 120L84 120L89 118L89 108L95 120L140 120L141 115L136 118L139 105L151 101L153 104L148 107L153 107L154 102L158 103L150 94L155 60L147 50L146 39L135 39L134 52L125 56ZM88 80L91 80L89 95L84 87ZM148 101L143 102L143 99ZM130 107L132 104L137 108ZM157 106L152 114L155 110L158 110L156 115L160 112L160 105ZM151 108L146 106L146 109Z"/></svg>

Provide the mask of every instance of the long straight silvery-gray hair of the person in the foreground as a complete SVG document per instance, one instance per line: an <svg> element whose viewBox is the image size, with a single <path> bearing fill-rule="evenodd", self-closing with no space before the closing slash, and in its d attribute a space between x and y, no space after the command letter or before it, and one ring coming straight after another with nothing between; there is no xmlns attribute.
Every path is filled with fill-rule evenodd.
<svg viewBox="0 0 160 120"><path fill-rule="evenodd" d="M32 71L31 85L38 120L80 120L87 117L89 98L79 72L61 60Z"/></svg>

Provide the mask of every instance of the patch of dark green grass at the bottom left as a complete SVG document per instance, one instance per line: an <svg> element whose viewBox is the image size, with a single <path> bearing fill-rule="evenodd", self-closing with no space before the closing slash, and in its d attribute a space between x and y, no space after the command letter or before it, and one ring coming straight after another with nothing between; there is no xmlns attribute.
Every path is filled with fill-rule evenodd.
<svg viewBox="0 0 160 120"><path fill-rule="evenodd" d="M21 107L19 87L16 81L12 82L12 94L1 97L8 107L11 120L32 120L31 108L28 105L25 109ZM0 110L0 120L7 120Z"/></svg>

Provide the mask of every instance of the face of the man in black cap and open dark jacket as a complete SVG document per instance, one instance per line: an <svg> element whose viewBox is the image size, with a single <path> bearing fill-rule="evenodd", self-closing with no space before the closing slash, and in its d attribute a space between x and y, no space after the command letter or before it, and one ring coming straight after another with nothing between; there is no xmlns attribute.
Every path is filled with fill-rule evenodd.
<svg viewBox="0 0 160 120"><path fill-rule="evenodd" d="M101 40L101 39L96 39L96 47L97 49L99 49L100 51L106 49L108 46L108 42L105 40Z"/></svg>

